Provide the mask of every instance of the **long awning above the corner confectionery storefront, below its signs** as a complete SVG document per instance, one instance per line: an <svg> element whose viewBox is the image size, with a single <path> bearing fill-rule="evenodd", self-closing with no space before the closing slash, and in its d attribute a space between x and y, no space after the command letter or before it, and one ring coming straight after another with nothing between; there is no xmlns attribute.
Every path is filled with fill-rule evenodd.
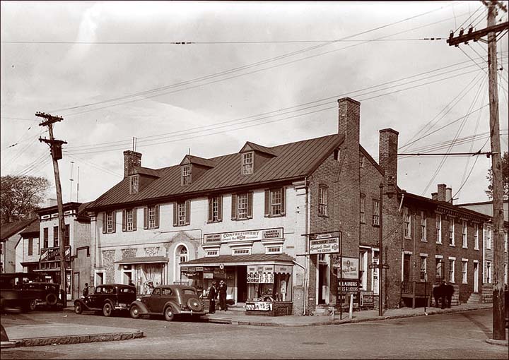
<svg viewBox="0 0 509 360"><path fill-rule="evenodd" d="M293 266L293 258L286 253L281 254L253 254L253 255L221 255L207 256L180 263L181 266L234 266L234 265L287 265Z"/></svg>

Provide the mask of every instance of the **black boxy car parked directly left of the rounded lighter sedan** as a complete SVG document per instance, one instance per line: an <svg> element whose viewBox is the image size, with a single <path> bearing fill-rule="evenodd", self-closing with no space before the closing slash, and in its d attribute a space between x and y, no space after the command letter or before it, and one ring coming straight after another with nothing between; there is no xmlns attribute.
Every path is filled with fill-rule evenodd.
<svg viewBox="0 0 509 360"><path fill-rule="evenodd" d="M136 287L126 284L102 284L95 287L93 294L74 301L74 312L86 310L103 311L111 316L114 311L128 311L129 304L136 300Z"/></svg>

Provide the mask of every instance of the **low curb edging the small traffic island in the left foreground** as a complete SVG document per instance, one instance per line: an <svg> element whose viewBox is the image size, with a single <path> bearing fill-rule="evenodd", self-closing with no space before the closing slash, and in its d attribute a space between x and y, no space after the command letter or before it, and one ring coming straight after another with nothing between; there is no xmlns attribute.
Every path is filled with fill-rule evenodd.
<svg viewBox="0 0 509 360"><path fill-rule="evenodd" d="M35 337L32 339L13 339L12 341L16 342L16 347L36 347L52 344L64 345L81 344L83 342L131 340L139 339L140 337L144 337L143 331L136 330L136 332L113 332L110 334Z"/></svg>

